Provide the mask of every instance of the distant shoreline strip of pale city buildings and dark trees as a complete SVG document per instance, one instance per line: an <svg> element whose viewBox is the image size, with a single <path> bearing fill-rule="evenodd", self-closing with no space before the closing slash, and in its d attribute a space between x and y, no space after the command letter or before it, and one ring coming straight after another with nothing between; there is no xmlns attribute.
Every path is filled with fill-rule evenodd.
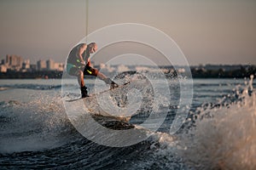
<svg viewBox="0 0 256 170"><path fill-rule="evenodd" d="M256 65L95 65L104 74L112 76L125 71L150 72L157 76L163 73L166 77L195 78L244 78L254 75ZM64 71L63 63L56 63L53 59L40 59L31 64L30 59L23 59L17 55L6 55L0 63L0 78L61 78ZM190 74L191 72L191 74Z"/></svg>

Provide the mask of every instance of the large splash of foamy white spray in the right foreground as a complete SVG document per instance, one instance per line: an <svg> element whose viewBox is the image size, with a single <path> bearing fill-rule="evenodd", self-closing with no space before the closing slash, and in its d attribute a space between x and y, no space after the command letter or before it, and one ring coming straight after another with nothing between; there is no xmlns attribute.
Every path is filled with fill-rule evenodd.
<svg viewBox="0 0 256 170"><path fill-rule="evenodd" d="M199 108L195 128L182 136L187 163L200 169L256 169L256 94L248 93L252 79L231 105Z"/></svg>

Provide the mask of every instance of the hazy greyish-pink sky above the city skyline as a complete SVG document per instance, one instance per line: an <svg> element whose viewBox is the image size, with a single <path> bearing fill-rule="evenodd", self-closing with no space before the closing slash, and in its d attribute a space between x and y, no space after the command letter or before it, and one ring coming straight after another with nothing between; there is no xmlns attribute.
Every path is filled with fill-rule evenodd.
<svg viewBox="0 0 256 170"><path fill-rule="evenodd" d="M189 65L256 65L254 0L89 0L88 13L86 4L85 0L0 0L0 59L17 54L33 63L65 62L86 33L138 23L171 37ZM112 55L107 51L108 57Z"/></svg>

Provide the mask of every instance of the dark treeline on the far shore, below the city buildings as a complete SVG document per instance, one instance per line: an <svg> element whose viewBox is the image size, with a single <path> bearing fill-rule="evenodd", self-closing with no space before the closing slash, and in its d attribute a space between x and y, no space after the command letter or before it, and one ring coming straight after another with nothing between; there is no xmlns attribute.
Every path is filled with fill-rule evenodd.
<svg viewBox="0 0 256 170"><path fill-rule="evenodd" d="M62 78L62 71L7 71L0 72L0 79L60 79ZM177 77L176 71L165 72L166 77ZM236 70L225 71L224 69L206 70L204 68L191 68L193 78L245 78L251 75L256 76L256 66L242 67ZM186 73L180 73L181 76L187 76Z"/></svg>

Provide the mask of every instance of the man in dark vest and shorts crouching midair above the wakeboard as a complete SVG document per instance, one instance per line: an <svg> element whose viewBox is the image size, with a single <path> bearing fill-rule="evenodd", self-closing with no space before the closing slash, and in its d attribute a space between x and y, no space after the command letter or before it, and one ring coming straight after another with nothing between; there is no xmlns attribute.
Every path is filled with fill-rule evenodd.
<svg viewBox="0 0 256 170"><path fill-rule="evenodd" d="M70 76L78 77L82 98L89 97L87 88L84 84L84 75L99 77L107 84L110 84L111 88L118 87L118 84L113 82L110 78L91 67L90 54L95 53L96 50L97 45L95 42L91 42L89 45L80 43L71 50L67 58L67 73Z"/></svg>

